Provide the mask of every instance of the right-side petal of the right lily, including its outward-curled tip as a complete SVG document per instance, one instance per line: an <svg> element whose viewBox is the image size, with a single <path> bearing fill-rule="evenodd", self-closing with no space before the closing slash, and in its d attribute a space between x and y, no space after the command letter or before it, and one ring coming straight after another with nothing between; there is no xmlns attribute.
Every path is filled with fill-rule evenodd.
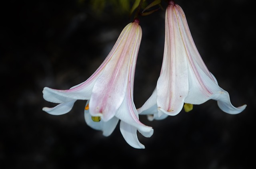
<svg viewBox="0 0 256 169"><path fill-rule="evenodd" d="M183 38L189 63L189 93L184 102L202 104L209 99L214 99L218 100L218 106L224 112L230 114L242 112L246 108L246 105L235 108L230 102L228 92L218 86L216 78L208 71L193 41L182 8L175 5L174 10L179 21L180 34Z"/></svg>

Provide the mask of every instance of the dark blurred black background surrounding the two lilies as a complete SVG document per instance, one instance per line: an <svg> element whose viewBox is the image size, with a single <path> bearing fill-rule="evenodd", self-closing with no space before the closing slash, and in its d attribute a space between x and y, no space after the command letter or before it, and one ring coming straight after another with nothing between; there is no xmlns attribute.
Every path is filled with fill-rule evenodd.
<svg viewBox="0 0 256 169"><path fill-rule="evenodd" d="M88 1L8 1L0 26L0 169L98 169L164 166L174 169L248 169L255 166L255 12L249 0L176 0L188 20L202 59L240 114L222 112L215 100L194 105L138 134L146 149L123 139L119 124L109 137L84 120L86 101L64 115L42 111L48 86L68 89L85 81L112 49L129 22L106 4ZM163 3L164 4L164 3ZM166 8L163 5L164 9ZM134 103L142 106L158 79L164 49L164 13L141 17Z"/></svg>

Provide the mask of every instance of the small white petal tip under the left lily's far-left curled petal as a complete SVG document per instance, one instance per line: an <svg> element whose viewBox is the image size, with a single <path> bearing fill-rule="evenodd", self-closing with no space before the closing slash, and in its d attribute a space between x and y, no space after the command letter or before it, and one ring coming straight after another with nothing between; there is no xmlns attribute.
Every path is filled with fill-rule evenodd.
<svg viewBox="0 0 256 169"><path fill-rule="evenodd" d="M53 108L44 107L43 110L52 115L62 115L62 114L66 114L67 112L69 112L72 109L72 107L74 106L75 102L76 102L76 100L73 99L73 101L60 103Z"/></svg>

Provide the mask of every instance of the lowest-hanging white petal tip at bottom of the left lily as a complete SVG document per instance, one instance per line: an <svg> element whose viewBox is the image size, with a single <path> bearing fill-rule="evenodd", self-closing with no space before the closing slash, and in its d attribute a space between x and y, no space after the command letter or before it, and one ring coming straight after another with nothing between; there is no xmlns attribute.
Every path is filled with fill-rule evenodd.
<svg viewBox="0 0 256 169"><path fill-rule="evenodd" d="M124 137L124 140L132 147L138 149L144 149L145 146L140 143L137 136L137 129L130 124L127 124L123 121L120 122L120 131Z"/></svg>

